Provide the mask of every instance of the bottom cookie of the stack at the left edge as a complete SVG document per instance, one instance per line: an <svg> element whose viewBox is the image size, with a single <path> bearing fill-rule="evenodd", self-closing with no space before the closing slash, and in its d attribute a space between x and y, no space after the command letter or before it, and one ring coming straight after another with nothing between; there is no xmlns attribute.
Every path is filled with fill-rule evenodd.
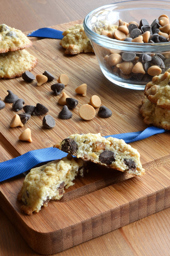
<svg viewBox="0 0 170 256"><path fill-rule="evenodd" d="M0 78L14 78L31 71L37 64L37 58L26 50L0 54Z"/></svg>

